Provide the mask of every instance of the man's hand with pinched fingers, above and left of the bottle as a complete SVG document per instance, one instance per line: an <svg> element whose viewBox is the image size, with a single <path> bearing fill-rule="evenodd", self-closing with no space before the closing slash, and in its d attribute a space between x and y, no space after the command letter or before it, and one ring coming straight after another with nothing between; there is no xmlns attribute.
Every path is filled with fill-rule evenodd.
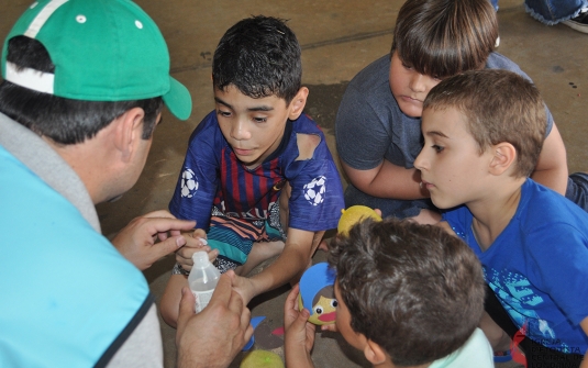
<svg viewBox="0 0 588 368"><path fill-rule="evenodd" d="M155 211L133 219L117 234L112 244L133 265L144 270L184 246L186 238L181 231L195 226L196 221L178 220L167 211Z"/></svg>

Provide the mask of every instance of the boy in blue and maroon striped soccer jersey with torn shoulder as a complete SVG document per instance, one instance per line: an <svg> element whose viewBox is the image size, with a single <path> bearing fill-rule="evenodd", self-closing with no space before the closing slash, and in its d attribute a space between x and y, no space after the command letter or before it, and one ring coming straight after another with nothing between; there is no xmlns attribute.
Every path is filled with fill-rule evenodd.
<svg viewBox="0 0 588 368"><path fill-rule="evenodd" d="M215 110L190 137L169 203L175 216L206 230L221 271L246 276L279 255L260 274L237 278L245 303L300 277L344 207L325 137L302 112L309 91L300 54L296 35L275 18L244 19L226 31L212 62ZM178 250L186 270L195 250ZM171 325L187 286L182 267L162 299Z"/></svg>

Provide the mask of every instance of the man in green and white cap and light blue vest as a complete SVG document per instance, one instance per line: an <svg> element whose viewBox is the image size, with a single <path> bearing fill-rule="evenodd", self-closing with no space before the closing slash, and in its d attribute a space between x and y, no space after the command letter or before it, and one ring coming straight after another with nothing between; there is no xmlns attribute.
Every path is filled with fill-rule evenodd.
<svg viewBox="0 0 588 368"><path fill-rule="evenodd" d="M190 115L157 25L127 0L41 0L8 35L1 68L0 366L162 367L140 269L195 223L154 212L113 247L93 207L136 182L164 103ZM179 367L226 366L251 337L233 276L198 315L182 293Z"/></svg>

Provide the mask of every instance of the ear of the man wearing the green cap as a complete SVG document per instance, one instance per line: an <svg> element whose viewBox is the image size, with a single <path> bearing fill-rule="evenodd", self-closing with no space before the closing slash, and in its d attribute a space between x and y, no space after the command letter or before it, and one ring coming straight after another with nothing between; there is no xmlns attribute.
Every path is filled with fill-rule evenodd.
<svg viewBox="0 0 588 368"><path fill-rule="evenodd" d="M145 111L143 109L133 108L112 122L117 124L114 145L125 161L130 159L143 135L144 118Z"/></svg>

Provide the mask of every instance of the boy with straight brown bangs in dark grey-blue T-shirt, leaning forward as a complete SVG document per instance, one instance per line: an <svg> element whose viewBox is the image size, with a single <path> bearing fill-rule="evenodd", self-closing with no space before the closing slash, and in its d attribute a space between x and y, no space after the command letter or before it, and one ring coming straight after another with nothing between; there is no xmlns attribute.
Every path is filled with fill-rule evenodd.
<svg viewBox="0 0 588 368"><path fill-rule="evenodd" d="M413 165L422 148L423 101L442 79L466 70L508 69L529 78L517 64L493 52L497 37L496 11L488 0L407 0L402 4L390 54L353 78L336 115L336 149L350 179L346 207L380 209L385 218L436 214L434 222L439 221ZM532 177L564 193L565 146L548 111L547 116L547 138ZM581 180L577 181L570 188L581 190ZM583 201L575 190L569 196Z"/></svg>

